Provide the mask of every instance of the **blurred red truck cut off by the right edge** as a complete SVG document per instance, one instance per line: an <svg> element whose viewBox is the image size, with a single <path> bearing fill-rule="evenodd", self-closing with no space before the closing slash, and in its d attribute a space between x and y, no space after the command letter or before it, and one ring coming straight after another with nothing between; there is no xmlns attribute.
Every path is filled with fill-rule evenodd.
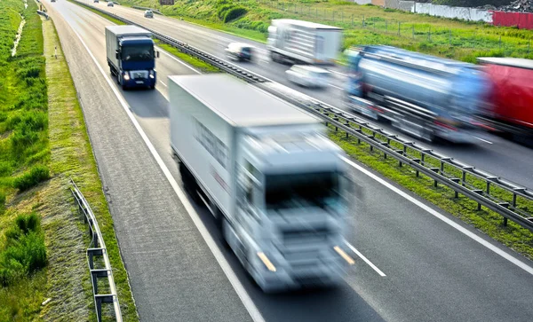
<svg viewBox="0 0 533 322"><path fill-rule="evenodd" d="M533 59L478 60L492 83L483 121L494 130L533 137Z"/></svg>

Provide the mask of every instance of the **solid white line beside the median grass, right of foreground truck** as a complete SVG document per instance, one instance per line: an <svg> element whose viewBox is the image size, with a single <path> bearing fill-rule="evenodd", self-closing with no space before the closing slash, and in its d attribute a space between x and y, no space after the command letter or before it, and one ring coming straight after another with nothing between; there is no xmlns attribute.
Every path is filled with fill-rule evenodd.
<svg viewBox="0 0 533 322"><path fill-rule="evenodd" d="M416 200L415 198L411 197L406 192L402 192L402 190L396 188L394 185L389 184L388 182L386 182L382 178L374 175L369 170L362 168L360 165L356 164L354 161L351 161L351 160L347 159L346 157L343 157L342 159L344 161L346 161L346 163L348 163L349 165L354 167L355 169L358 169L359 171L361 171L365 175L367 175L367 176L371 177L372 179L378 181L379 184L385 185L387 188L389 188L393 192L396 192L399 195L401 195L403 198L405 198L407 200L410 200L410 202L414 203L419 208L422 208L422 209L426 210L428 213L430 213L431 215L433 215L433 216L437 217L438 219L442 220L444 223L449 224L453 228L457 229L457 231L464 233L467 237L470 237L471 239L477 241L482 246L489 248L489 250L493 251L497 255L502 256L507 261L515 264L516 266L520 267L522 270L527 271L527 272L529 272L529 274L533 275L533 267L529 266L527 263L524 263L521 260L519 260L517 258L514 258L512 255L507 254L504 250L502 250L502 249L490 244L487 240L483 240L481 237L477 236L473 232L470 232L469 230L467 230L466 228L464 228L460 224L457 224L457 223L451 221L448 217L442 215L441 213L439 213L438 211L434 210L433 208L430 208L429 206L425 205L424 203Z"/></svg>

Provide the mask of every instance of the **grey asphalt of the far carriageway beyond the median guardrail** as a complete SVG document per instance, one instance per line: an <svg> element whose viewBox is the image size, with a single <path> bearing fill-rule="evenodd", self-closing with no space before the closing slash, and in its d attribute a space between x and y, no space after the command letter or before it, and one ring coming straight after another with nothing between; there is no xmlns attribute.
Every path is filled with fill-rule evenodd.
<svg viewBox="0 0 533 322"><path fill-rule="evenodd" d="M317 98L332 106L344 108L342 100L342 89L345 87L345 74L343 67L330 68L334 75L333 82L326 90L305 89L287 81L285 71L289 66L274 63L270 60L267 46L263 43L256 43L248 39L243 39L235 35L219 32L207 27L201 27L185 21L167 18L155 14L154 19L147 19L143 16L143 11L115 5L107 7L106 2L93 4L91 0L83 0L86 4L91 4L99 9L113 12L123 18L150 27L164 35L169 35L182 42L189 43L198 49L216 55L221 59L226 59L225 48L228 43L243 42L251 43L259 50L259 59L256 63L235 63L259 75L267 77L274 82L280 82L292 89L299 90L306 95ZM368 120L372 122L371 120ZM398 130L386 123L379 123L386 130L398 132ZM407 136L403 136L407 137ZM533 188L533 149L514 143L502 137L481 133L477 136L475 145L454 145L449 143L429 144L423 142L428 148L439 151L456 158L474 167L484 169L492 174L505 177L518 185ZM418 139L410 137L410 140Z"/></svg>

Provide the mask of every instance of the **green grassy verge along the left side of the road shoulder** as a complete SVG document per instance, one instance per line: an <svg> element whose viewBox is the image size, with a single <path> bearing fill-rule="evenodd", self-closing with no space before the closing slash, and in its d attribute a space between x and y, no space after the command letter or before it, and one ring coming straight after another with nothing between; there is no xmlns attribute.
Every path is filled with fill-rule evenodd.
<svg viewBox="0 0 533 322"><path fill-rule="evenodd" d="M95 320L87 228L68 191L68 177L99 219L123 319L138 321L76 89L52 20L42 22L36 9L34 2L27 10L20 0L0 2L6 17L0 20L0 271L7 276L5 269L11 270L9 282L0 286L0 321ZM12 58L18 12L27 23ZM24 214L36 214L42 228L21 234L36 226L33 219L17 219ZM51 301L42 305L46 299Z"/></svg>

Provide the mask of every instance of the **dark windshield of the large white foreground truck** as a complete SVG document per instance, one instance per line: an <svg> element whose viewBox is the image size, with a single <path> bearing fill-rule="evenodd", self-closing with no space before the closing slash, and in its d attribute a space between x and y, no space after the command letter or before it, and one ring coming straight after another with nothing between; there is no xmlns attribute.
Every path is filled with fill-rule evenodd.
<svg viewBox="0 0 533 322"><path fill-rule="evenodd" d="M338 172L268 175L267 209L325 207L339 199Z"/></svg>

